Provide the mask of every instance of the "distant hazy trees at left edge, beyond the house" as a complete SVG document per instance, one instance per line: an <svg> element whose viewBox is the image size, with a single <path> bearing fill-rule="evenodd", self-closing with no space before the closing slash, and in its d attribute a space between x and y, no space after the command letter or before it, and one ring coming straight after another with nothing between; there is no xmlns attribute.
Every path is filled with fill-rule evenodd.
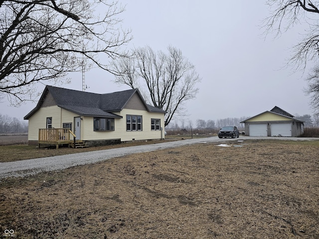
<svg viewBox="0 0 319 239"><path fill-rule="evenodd" d="M27 122L0 114L0 133L25 133L27 131Z"/></svg>

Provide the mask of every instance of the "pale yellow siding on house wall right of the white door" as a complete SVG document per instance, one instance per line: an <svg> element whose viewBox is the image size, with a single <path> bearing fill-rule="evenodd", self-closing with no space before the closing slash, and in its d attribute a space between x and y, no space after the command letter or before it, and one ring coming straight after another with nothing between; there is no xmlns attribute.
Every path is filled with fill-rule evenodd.
<svg viewBox="0 0 319 239"><path fill-rule="evenodd" d="M123 119L115 119L114 131L94 131L93 117L82 117L81 137L83 140L99 140L99 139L116 139L121 138L121 141L130 140L144 140L144 139L160 139L164 138L164 114L150 113L141 110L124 109L120 113L116 113L123 117ZM142 131L127 131L126 130L126 115L139 115L142 118ZM160 130L151 130L151 119L160 119L161 127L163 128L162 135Z"/></svg>

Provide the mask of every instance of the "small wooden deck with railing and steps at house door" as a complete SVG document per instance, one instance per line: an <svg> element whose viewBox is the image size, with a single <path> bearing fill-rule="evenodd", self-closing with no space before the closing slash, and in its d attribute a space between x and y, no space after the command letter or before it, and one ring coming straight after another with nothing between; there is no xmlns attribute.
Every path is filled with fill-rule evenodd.
<svg viewBox="0 0 319 239"><path fill-rule="evenodd" d="M75 145L76 135L69 128L39 128L38 144L54 144L59 148L61 144Z"/></svg>

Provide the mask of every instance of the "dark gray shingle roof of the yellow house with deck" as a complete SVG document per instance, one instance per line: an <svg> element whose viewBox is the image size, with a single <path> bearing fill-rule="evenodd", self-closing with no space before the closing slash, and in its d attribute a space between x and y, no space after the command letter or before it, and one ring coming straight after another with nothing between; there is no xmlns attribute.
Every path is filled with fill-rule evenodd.
<svg viewBox="0 0 319 239"><path fill-rule="evenodd" d="M32 116L42 105L47 92L50 92L57 106L80 116L122 118L112 112L120 112L134 94L138 94L149 112L165 113L145 103L137 89L108 94L95 94L65 88L46 86L37 106L24 119Z"/></svg>

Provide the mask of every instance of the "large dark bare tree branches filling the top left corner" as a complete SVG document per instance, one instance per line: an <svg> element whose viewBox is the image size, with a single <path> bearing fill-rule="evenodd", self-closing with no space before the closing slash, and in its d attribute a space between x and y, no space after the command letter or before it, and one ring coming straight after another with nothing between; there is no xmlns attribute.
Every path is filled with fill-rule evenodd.
<svg viewBox="0 0 319 239"><path fill-rule="evenodd" d="M69 72L123 57L131 40L108 0L0 0L0 94L11 103L34 99L36 82L68 81Z"/></svg>

